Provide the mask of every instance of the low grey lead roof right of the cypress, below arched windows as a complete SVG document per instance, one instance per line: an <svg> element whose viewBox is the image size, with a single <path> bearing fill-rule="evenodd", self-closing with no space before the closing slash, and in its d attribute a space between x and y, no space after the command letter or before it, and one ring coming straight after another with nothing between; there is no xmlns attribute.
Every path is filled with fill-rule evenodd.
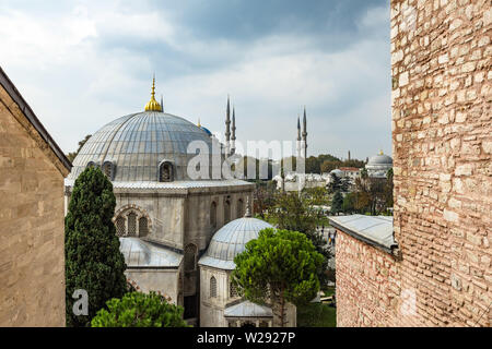
<svg viewBox="0 0 492 349"><path fill-rule="evenodd" d="M139 238L119 238L119 251L128 267L177 268L183 255Z"/></svg>

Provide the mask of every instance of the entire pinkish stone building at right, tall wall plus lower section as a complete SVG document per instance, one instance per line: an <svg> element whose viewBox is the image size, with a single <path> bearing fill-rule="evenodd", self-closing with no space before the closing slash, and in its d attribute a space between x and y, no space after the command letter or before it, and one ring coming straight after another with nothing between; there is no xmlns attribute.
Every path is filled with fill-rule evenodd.
<svg viewBox="0 0 492 349"><path fill-rule="evenodd" d="M490 326L491 2L390 7L398 253L339 229L337 323Z"/></svg>

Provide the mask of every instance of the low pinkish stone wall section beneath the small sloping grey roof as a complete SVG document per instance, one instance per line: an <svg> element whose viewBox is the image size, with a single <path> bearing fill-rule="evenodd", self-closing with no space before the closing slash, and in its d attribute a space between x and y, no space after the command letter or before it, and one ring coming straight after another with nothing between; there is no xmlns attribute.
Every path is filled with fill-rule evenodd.
<svg viewBox="0 0 492 349"><path fill-rule="evenodd" d="M393 255L340 230L335 249L337 326L390 326L407 316Z"/></svg>

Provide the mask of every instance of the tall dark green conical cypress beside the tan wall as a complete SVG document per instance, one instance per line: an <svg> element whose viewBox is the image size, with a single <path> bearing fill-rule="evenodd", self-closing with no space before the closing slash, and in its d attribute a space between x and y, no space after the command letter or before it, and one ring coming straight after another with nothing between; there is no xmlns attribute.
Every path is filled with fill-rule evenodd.
<svg viewBox="0 0 492 349"><path fill-rule="evenodd" d="M112 298L127 291L125 258L112 221L116 198L113 184L95 167L75 180L65 219L66 312L68 326L86 326ZM89 315L74 315L74 290L89 294Z"/></svg>

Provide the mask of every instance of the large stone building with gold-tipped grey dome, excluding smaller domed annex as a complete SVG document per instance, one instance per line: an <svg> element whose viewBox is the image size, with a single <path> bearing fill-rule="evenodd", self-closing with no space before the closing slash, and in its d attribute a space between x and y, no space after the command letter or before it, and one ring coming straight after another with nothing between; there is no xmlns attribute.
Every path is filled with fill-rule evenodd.
<svg viewBox="0 0 492 349"><path fill-rule="evenodd" d="M197 152L188 146L200 141L210 160L206 174L221 173L222 160L230 155L224 151L229 137L226 147L214 144L219 142L207 129L164 112L155 100L154 85L155 81L144 111L107 123L80 149L65 182L66 206L79 174L89 166L99 167L113 182L114 222L128 265L127 277L140 290L160 291L183 305L185 318L196 324L198 258L218 229L244 216L254 184L221 174L219 179L191 178L188 165ZM227 99L226 131L229 122Z"/></svg>

